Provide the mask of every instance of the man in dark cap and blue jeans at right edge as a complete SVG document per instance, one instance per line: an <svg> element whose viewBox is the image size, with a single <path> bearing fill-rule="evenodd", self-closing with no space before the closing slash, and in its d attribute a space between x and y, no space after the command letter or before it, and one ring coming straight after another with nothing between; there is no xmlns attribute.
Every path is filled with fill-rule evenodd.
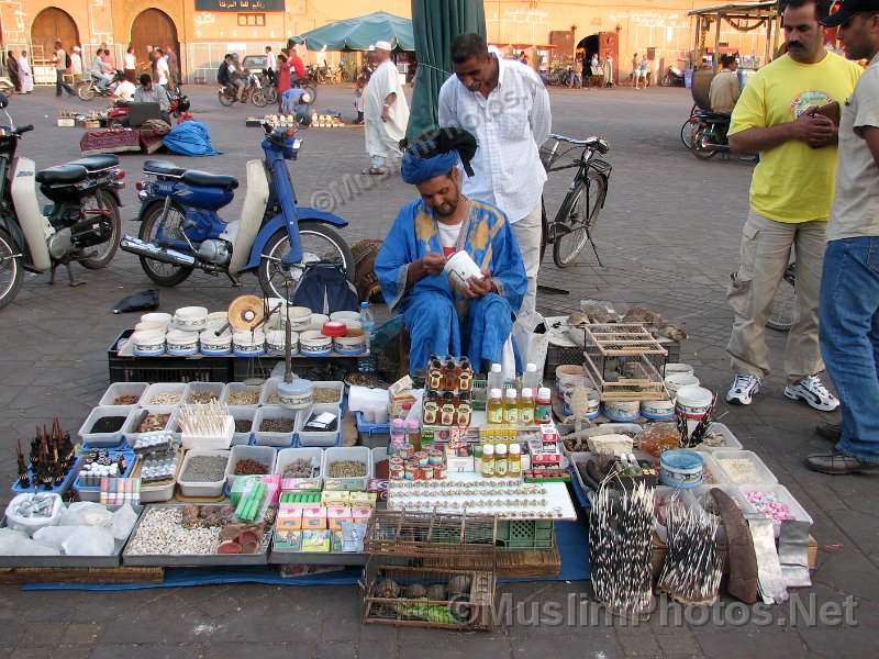
<svg viewBox="0 0 879 659"><path fill-rule="evenodd" d="M819 305L821 353L843 421L835 449L805 460L813 471L843 474L879 468L879 0L843 0L821 23L838 25L846 58L869 60L839 122Z"/></svg>

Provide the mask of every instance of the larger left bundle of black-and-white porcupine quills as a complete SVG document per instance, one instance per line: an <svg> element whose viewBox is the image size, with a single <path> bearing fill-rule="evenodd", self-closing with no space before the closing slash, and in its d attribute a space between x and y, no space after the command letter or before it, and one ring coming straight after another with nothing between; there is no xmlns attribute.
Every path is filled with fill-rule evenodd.
<svg viewBox="0 0 879 659"><path fill-rule="evenodd" d="M592 588L614 615L639 618L653 599L654 490L639 482L615 503L610 492L607 484L599 490L589 517Z"/></svg>

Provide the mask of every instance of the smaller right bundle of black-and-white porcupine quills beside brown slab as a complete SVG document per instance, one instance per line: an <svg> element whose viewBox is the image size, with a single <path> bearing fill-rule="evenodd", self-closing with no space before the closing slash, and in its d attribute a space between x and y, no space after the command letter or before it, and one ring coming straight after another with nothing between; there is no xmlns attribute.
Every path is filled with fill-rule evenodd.
<svg viewBox="0 0 879 659"><path fill-rule="evenodd" d="M717 517L682 505L668 509L668 552L657 584L681 604L717 601L723 560L714 537Z"/></svg>

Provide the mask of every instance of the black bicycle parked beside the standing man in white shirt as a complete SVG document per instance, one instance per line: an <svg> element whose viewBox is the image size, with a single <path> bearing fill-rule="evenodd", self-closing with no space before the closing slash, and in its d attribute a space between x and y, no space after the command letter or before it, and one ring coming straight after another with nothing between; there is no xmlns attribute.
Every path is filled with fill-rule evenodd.
<svg viewBox="0 0 879 659"><path fill-rule="evenodd" d="M555 142L549 145L549 141ZM574 263L588 242L592 244L592 250L601 266L601 258L592 241L592 232L608 197L612 167L610 163L601 159L601 156L610 150L610 145L603 137L574 139L564 135L549 135L549 141L541 147L541 161L546 172L576 167L577 174L552 223L546 217L546 205L542 200L541 261L546 246L553 245L553 261L556 267L566 268ZM570 146L561 147L559 150L563 143ZM565 165L557 165L570 152L580 147L582 152L578 158Z"/></svg>

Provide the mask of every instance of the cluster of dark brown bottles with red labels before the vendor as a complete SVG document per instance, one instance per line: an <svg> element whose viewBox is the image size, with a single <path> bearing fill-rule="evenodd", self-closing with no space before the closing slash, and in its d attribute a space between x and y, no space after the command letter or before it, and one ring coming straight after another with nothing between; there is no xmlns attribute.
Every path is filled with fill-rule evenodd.
<svg viewBox="0 0 879 659"><path fill-rule="evenodd" d="M432 355L427 362L422 421L425 426L468 426L472 413L474 369L467 357Z"/></svg>

